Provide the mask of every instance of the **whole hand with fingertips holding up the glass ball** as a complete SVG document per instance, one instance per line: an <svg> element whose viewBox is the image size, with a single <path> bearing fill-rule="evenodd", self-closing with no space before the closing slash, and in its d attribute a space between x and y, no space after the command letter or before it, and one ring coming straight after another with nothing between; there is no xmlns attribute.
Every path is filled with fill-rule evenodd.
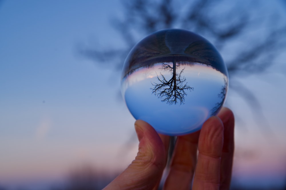
<svg viewBox="0 0 286 190"><path fill-rule="evenodd" d="M139 139L134 161L104 190L158 189L167 163L169 136L137 120ZM223 107L200 131L178 136L164 190L229 189L234 153L234 116Z"/></svg>

